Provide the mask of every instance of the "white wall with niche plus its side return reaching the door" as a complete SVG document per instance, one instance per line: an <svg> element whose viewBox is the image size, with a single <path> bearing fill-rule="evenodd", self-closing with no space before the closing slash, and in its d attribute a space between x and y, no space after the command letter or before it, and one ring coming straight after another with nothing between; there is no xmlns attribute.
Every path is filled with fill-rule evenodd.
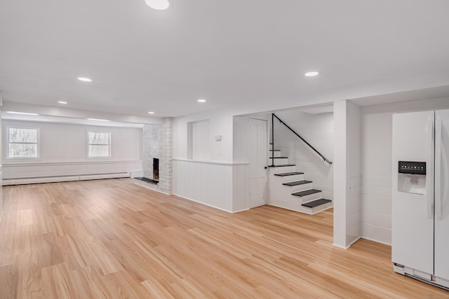
<svg viewBox="0 0 449 299"><path fill-rule="evenodd" d="M226 211L248 209L249 123L248 116L235 114L236 111L220 109L173 120L176 195ZM208 121L209 156L189 159L189 124L203 120ZM221 141L215 141L217 135L221 135Z"/></svg>

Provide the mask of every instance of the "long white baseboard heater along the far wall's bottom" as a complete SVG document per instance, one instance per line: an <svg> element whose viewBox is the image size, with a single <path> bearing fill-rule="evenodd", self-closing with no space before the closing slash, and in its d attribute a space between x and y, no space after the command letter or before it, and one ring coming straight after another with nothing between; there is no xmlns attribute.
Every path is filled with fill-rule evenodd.
<svg viewBox="0 0 449 299"><path fill-rule="evenodd" d="M34 178L3 179L2 185L25 185L29 183L55 183L58 181L88 181L93 179L129 178L130 172L114 172L110 174L77 174L74 176L39 176Z"/></svg>

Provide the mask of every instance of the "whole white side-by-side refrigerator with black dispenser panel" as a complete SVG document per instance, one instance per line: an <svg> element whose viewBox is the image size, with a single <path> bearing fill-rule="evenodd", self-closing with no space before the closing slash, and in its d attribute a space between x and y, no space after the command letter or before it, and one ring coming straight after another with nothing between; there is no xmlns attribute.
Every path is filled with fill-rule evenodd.
<svg viewBox="0 0 449 299"><path fill-rule="evenodd" d="M449 289L449 110L393 115L394 271Z"/></svg>

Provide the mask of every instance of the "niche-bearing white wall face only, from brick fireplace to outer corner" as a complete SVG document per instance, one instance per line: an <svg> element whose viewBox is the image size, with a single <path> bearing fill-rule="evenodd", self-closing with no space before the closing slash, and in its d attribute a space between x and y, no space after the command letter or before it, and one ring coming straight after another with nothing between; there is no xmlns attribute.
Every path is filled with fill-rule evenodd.
<svg viewBox="0 0 449 299"><path fill-rule="evenodd" d="M192 144L195 141L192 127L194 123L208 125L208 134L201 138L201 143L209 144L208 152L202 151L201 159L192 159L195 158ZM233 211L232 130L232 113L226 109L173 119L175 195ZM221 135L222 140L215 141L216 135Z"/></svg>

